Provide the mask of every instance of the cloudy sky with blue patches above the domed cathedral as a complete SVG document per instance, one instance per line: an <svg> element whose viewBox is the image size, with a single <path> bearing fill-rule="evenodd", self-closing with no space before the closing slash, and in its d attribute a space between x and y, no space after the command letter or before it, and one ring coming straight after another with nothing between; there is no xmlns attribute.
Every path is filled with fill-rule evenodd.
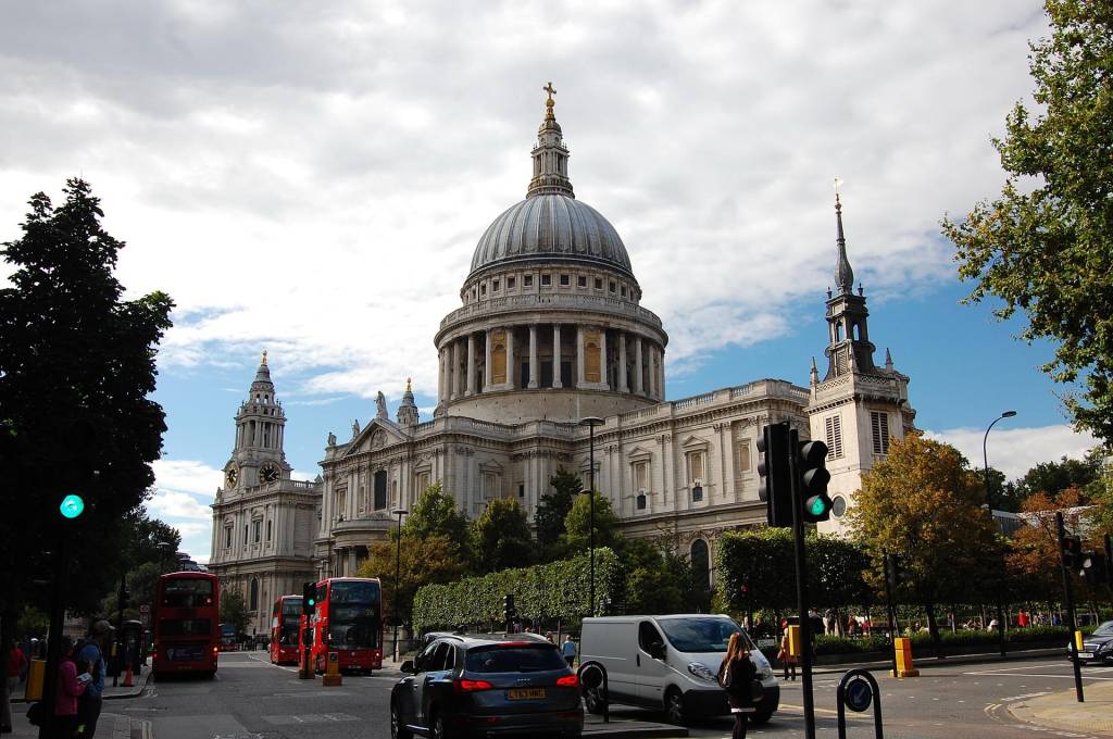
<svg viewBox="0 0 1113 739"><path fill-rule="evenodd" d="M670 400L807 382L826 343L831 180L870 334L917 424L1011 476L1078 455L1051 349L958 300L939 236L1003 181L1035 0L28 2L0 24L0 240L88 179L131 295L168 292L152 511L206 560L259 352L297 474L325 436L435 404L433 334L486 225L523 197L552 80L577 195L662 316ZM10 268L0 266L0 270ZM7 274L0 272L0 276Z"/></svg>

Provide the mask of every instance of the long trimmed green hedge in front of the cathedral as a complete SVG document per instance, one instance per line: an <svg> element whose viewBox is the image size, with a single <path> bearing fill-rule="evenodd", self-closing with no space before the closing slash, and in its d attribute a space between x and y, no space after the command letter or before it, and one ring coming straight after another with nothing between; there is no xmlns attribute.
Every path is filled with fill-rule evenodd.
<svg viewBox="0 0 1113 739"><path fill-rule="evenodd" d="M417 632L464 624L501 622L503 598L514 594L523 619L574 620L589 612L591 563L587 554L466 578L445 585L425 585L414 595L413 628ZM623 599L624 577L618 556L608 548L595 550L595 599Z"/></svg>

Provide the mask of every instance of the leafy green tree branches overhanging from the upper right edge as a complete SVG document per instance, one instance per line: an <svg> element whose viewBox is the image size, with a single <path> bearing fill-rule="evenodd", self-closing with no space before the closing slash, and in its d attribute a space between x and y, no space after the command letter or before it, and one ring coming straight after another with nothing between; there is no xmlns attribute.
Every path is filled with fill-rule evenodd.
<svg viewBox="0 0 1113 739"><path fill-rule="evenodd" d="M1031 43L1033 111L1017 102L993 141L1007 173L1001 196L962 223L943 221L966 303L1027 317L1021 338L1056 344L1044 371L1085 391L1066 404L1076 426L1113 443L1113 13L1107 0L1045 0L1050 39Z"/></svg>

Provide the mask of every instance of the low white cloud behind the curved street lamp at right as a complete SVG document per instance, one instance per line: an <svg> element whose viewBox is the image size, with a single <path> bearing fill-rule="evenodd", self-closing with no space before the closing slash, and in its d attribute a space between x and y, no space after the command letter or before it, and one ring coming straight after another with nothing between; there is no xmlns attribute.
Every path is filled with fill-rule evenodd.
<svg viewBox="0 0 1113 739"><path fill-rule="evenodd" d="M925 436L946 442L958 449L975 469L982 469L982 442L985 428L947 428L927 431ZM1030 428L995 426L986 440L989 466L1001 470L1008 480L1024 476L1041 462L1058 462L1067 456L1080 460L1097 445L1089 433L1077 433L1066 424Z"/></svg>

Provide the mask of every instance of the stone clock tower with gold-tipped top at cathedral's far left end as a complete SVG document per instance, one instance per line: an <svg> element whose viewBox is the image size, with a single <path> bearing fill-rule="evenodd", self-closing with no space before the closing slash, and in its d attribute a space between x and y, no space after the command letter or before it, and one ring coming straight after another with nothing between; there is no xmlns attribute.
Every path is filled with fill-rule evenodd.
<svg viewBox="0 0 1113 739"><path fill-rule="evenodd" d="M225 592L238 592L252 615L247 633L270 630L278 595L312 580L321 483L290 479L283 441L286 413L263 353L248 397L236 413L232 456L213 502L208 569Z"/></svg>

